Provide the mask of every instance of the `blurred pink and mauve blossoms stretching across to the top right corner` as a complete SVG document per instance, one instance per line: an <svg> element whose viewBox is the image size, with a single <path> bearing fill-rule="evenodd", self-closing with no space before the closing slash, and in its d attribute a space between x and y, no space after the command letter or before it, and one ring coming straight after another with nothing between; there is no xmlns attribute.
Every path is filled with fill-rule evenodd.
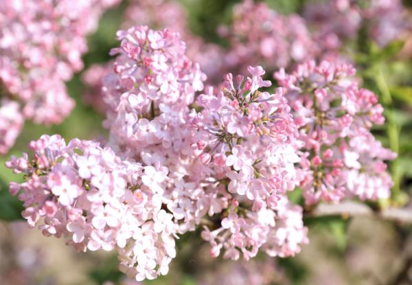
<svg viewBox="0 0 412 285"><path fill-rule="evenodd" d="M312 59L350 62L347 43L365 38L364 32L383 47L410 28L400 0L306 1L301 15L279 14L262 1L243 0L233 6L231 24L218 31L229 48L216 60L225 62L223 70L243 72L256 64L290 71Z"/></svg>

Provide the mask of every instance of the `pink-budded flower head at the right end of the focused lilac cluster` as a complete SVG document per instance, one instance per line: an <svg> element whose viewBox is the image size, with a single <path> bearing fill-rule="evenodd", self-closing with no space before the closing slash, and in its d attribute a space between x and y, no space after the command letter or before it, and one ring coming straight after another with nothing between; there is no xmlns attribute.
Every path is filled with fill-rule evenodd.
<svg viewBox="0 0 412 285"><path fill-rule="evenodd" d="M374 93L358 87L355 73L350 65L326 61L306 62L290 75L275 73L304 143L299 150L306 203L389 197L392 181L383 161L395 154L370 133L383 124L383 108Z"/></svg>

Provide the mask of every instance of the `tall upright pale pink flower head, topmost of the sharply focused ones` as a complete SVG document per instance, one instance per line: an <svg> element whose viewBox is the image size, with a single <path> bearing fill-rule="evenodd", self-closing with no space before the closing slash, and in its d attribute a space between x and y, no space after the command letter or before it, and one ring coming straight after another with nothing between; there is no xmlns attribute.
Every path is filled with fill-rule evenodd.
<svg viewBox="0 0 412 285"><path fill-rule="evenodd" d="M117 34L122 43L112 54L119 56L104 86L116 109L107 122L111 139L136 153L148 144L174 143L162 128L183 120L205 74L185 56L178 33L135 26Z"/></svg>

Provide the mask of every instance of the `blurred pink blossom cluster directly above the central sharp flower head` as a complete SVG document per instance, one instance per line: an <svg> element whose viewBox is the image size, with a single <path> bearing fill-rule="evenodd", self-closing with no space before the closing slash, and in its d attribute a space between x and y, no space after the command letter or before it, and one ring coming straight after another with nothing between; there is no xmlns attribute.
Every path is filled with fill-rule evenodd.
<svg viewBox="0 0 412 285"><path fill-rule="evenodd" d="M278 14L264 2L237 4L231 26L220 30L230 43L225 55L230 69L260 64L274 71L314 58L318 52L301 16Z"/></svg>

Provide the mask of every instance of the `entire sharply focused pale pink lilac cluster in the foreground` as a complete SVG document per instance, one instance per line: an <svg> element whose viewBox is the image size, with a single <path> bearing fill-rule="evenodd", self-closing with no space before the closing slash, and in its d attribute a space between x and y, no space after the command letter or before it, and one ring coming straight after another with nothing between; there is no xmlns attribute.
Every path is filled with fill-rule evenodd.
<svg viewBox="0 0 412 285"><path fill-rule="evenodd" d="M264 69L249 66L249 76L227 73L201 93L205 73L179 33L133 26L117 37L102 81L106 147L43 136L32 158L7 163L25 174L10 192L46 236L115 249L120 270L140 282L168 273L175 239L199 228L213 257L299 253L303 209L288 199L298 186L308 204L389 195L383 161L393 153L370 133L382 106L349 65L281 69L273 92Z"/></svg>

